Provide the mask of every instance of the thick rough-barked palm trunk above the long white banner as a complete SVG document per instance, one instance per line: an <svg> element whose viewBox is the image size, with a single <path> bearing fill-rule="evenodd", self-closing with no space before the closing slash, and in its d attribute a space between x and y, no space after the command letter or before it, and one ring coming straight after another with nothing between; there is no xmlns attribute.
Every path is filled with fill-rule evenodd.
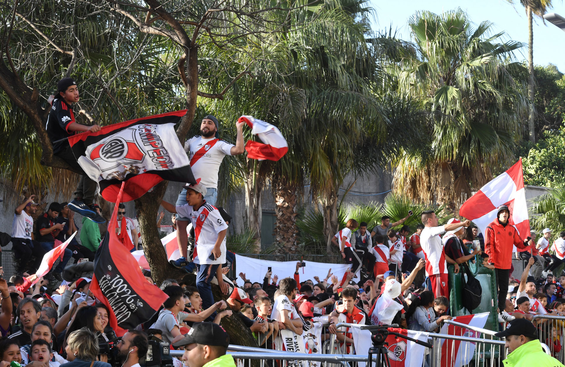
<svg viewBox="0 0 565 367"><path fill-rule="evenodd" d="M279 182L275 187L275 240L282 246L282 251L286 253L296 253L296 236L298 227L296 226L296 187L284 181Z"/></svg>

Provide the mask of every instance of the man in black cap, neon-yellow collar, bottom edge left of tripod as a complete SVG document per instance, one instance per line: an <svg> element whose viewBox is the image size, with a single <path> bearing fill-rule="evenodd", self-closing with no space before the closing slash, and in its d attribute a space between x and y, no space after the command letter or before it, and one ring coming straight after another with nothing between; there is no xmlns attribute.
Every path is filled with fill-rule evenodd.
<svg viewBox="0 0 565 367"><path fill-rule="evenodd" d="M196 322L184 338L173 347L184 347L182 362L188 367L235 367L231 355L225 354L229 336L213 322Z"/></svg>

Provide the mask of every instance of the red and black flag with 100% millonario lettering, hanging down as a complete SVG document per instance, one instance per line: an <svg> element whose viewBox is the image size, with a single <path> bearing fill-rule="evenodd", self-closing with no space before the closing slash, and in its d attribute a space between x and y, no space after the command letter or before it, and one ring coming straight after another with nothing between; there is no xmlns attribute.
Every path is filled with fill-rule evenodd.
<svg viewBox="0 0 565 367"><path fill-rule="evenodd" d="M122 183L122 188L125 184ZM108 228L116 227L121 194L120 190ZM110 326L118 336L153 317L168 298L159 287L145 279L136 259L115 231L106 232L96 252L89 289L110 310Z"/></svg>

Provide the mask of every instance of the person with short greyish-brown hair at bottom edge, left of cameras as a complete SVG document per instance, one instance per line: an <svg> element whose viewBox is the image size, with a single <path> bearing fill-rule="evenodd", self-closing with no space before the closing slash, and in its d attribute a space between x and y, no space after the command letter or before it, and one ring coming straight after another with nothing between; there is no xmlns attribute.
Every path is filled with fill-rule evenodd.
<svg viewBox="0 0 565 367"><path fill-rule="evenodd" d="M86 327L69 334L65 352L68 360L65 367L111 367L109 363L97 361L98 339Z"/></svg>

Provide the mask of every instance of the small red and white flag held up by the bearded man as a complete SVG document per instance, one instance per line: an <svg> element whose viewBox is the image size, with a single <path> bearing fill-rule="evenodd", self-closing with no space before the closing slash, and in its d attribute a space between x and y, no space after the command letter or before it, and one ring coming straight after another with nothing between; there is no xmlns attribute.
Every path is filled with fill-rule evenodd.
<svg viewBox="0 0 565 367"><path fill-rule="evenodd" d="M253 116L241 116L237 122L245 122L251 128L251 133L257 135L264 144L249 140L245 144L247 158L269 159L278 161L288 152L288 144L280 130L268 122L253 118Z"/></svg>

